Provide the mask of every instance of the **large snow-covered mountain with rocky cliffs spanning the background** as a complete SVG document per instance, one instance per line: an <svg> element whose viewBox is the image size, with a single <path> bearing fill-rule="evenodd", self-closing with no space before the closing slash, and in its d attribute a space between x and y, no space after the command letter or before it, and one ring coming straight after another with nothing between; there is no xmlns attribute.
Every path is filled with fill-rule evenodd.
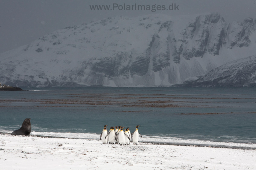
<svg viewBox="0 0 256 170"><path fill-rule="evenodd" d="M256 20L220 14L109 17L0 54L11 86L170 86L255 55Z"/></svg>

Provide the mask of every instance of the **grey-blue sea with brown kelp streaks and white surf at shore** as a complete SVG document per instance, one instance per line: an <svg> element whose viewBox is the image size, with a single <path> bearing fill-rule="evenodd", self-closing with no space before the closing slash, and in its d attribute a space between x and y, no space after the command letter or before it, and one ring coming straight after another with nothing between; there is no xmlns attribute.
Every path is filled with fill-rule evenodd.
<svg viewBox="0 0 256 170"><path fill-rule="evenodd" d="M255 88L27 88L0 91L0 132L99 139L136 125L139 141L256 149Z"/></svg>

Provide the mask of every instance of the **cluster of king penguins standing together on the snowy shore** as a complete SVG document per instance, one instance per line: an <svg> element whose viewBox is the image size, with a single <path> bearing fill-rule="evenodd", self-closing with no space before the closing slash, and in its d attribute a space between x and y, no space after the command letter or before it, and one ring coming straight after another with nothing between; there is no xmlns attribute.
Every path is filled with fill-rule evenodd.
<svg viewBox="0 0 256 170"><path fill-rule="evenodd" d="M126 128L126 131L124 132L124 127L122 126L116 126L116 130L114 129L114 126L110 127L110 130L107 131L107 125L104 125L104 129L102 130L102 133L100 134L100 140L102 140L103 143L110 143L110 144L120 144L120 145L130 145L130 142L133 142L133 144L138 145L138 140L140 135L138 131L138 127L140 125L136 126L136 130L131 133L129 127Z"/></svg>

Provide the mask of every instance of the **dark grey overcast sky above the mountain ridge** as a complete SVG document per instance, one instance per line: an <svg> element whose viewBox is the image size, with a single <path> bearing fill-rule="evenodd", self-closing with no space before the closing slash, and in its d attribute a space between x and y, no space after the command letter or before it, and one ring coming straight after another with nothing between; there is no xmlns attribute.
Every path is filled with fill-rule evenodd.
<svg viewBox="0 0 256 170"><path fill-rule="evenodd" d="M165 5L178 10L92 11L90 5ZM0 53L26 45L67 26L96 21L108 16L141 16L162 13L170 16L218 12L227 21L256 19L256 0L0 0Z"/></svg>

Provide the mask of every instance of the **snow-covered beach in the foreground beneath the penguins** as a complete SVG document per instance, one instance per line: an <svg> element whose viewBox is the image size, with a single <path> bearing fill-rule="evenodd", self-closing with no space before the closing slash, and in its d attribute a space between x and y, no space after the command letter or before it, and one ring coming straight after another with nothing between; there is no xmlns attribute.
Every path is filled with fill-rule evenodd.
<svg viewBox="0 0 256 170"><path fill-rule="evenodd" d="M1 170L255 170L255 149L176 145L102 144L69 139L0 134Z"/></svg>

